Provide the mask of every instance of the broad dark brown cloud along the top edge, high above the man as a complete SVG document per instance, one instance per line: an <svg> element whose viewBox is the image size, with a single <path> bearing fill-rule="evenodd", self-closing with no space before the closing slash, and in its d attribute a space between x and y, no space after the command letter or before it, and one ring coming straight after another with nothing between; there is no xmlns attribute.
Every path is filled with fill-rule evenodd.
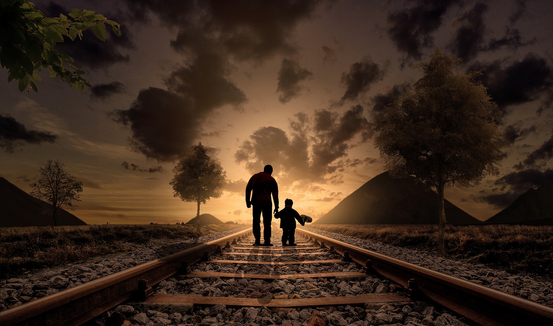
<svg viewBox="0 0 553 326"><path fill-rule="evenodd" d="M197 51L211 47L237 60L263 61L276 54L292 54L290 43L296 25L311 17L324 1L182 1L129 0L135 17L147 13L178 29L171 45L177 50ZM146 14L144 14L146 13Z"/></svg>

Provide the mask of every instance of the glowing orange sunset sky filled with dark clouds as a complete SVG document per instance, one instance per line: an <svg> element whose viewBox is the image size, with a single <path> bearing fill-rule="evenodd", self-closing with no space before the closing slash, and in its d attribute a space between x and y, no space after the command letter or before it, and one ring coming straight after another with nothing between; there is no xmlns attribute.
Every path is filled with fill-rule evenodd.
<svg viewBox="0 0 553 326"><path fill-rule="evenodd" d="M84 182L87 223L175 223L175 161L201 141L228 186L200 213L251 220L244 188L272 164L280 198L320 217L383 172L374 116L422 76L436 46L463 59L504 113L500 175L446 198L479 219L553 180L553 2L35 1L50 16L96 10L122 24L59 44L92 88L43 72L39 92L0 70L0 175L29 191L46 160Z"/></svg>

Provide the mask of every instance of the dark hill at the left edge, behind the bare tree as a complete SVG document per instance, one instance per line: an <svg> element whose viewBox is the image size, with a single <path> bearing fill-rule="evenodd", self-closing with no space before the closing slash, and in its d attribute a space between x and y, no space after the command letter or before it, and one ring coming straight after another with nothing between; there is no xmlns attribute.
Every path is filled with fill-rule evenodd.
<svg viewBox="0 0 553 326"><path fill-rule="evenodd" d="M0 227L44 227L54 225L51 215L42 213L48 203L20 190L13 183L0 177ZM58 209L58 225L86 225L75 215Z"/></svg>

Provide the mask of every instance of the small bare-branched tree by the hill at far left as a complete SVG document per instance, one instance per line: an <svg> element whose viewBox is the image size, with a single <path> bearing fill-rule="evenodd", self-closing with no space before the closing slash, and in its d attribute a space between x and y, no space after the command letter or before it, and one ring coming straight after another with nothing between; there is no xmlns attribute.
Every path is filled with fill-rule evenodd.
<svg viewBox="0 0 553 326"><path fill-rule="evenodd" d="M81 201L79 192L82 192L82 181L77 181L64 167L65 164L58 160L48 160L46 166L40 168L38 181L29 185L33 190L31 196L50 204L49 211L54 219L54 226L58 225L56 212L61 206L74 211L76 206L73 202Z"/></svg>

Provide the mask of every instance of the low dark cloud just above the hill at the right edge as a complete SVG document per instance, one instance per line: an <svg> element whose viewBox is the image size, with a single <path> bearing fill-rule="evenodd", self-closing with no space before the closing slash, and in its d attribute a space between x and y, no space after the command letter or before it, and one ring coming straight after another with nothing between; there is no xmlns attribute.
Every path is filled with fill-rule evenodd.
<svg viewBox="0 0 553 326"><path fill-rule="evenodd" d="M521 194L530 188L539 187L545 181L553 181L553 170L528 169L511 172L495 181L495 185L498 187L492 189L491 194L482 194L473 199L477 202L492 204L497 208L505 208Z"/></svg>

